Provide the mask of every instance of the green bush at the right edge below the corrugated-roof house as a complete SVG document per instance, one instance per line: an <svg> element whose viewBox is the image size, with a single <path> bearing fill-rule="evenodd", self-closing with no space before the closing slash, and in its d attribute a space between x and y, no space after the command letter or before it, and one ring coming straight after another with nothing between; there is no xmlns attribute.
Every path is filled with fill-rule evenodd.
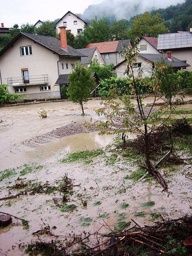
<svg viewBox="0 0 192 256"><path fill-rule="evenodd" d="M192 71L185 70L183 72L180 70L177 74L181 77L181 88L186 89L186 93L192 93Z"/></svg>

